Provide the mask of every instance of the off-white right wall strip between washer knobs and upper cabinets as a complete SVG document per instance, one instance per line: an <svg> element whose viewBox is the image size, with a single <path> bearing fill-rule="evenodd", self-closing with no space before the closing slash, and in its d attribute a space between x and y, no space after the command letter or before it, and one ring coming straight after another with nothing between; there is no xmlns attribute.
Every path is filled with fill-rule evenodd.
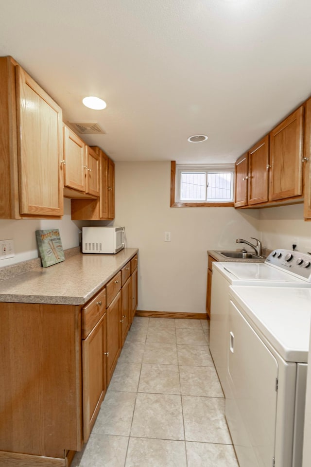
<svg viewBox="0 0 311 467"><path fill-rule="evenodd" d="M293 241L297 239L296 250L311 251L311 222L303 220L303 204L260 209L259 213L259 230L264 245L271 250L292 250Z"/></svg>

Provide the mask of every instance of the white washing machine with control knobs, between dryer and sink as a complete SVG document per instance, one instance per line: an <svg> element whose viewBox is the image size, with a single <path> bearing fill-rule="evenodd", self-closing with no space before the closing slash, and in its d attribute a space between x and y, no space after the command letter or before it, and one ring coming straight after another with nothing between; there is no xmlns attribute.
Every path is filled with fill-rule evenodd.
<svg viewBox="0 0 311 467"><path fill-rule="evenodd" d="M228 392L229 286L311 287L311 256L275 250L264 263L218 263L212 266L209 348L223 387Z"/></svg>

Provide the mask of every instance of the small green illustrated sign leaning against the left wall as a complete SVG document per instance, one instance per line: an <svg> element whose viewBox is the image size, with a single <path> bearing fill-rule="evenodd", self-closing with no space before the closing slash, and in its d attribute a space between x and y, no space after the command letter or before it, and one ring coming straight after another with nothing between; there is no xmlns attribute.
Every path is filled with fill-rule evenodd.
<svg viewBox="0 0 311 467"><path fill-rule="evenodd" d="M36 230L35 236L43 268L65 261L58 229Z"/></svg>

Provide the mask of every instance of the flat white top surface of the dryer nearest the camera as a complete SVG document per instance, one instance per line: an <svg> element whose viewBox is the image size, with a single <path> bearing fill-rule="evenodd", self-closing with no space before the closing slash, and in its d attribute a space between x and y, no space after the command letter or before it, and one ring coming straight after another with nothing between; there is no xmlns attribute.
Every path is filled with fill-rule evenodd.
<svg viewBox="0 0 311 467"><path fill-rule="evenodd" d="M310 288L230 286L230 295L284 360L308 362Z"/></svg>

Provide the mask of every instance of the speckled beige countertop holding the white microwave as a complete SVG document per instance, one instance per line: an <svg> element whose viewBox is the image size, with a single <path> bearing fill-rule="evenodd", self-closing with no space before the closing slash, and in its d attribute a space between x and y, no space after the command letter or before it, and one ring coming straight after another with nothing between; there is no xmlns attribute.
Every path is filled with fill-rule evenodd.
<svg viewBox="0 0 311 467"><path fill-rule="evenodd" d="M70 256L0 282L0 302L83 305L138 252Z"/></svg>

